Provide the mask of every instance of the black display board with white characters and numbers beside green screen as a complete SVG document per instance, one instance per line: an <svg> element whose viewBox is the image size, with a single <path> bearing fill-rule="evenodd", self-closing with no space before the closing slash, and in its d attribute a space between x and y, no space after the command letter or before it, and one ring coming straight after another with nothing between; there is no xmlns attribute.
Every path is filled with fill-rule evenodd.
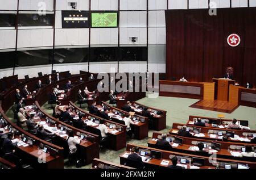
<svg viewBox="0 0 256 180"><path fill-rule="evenodd" d="M89 12L62 11L62 28L89 28Z"/></svg>

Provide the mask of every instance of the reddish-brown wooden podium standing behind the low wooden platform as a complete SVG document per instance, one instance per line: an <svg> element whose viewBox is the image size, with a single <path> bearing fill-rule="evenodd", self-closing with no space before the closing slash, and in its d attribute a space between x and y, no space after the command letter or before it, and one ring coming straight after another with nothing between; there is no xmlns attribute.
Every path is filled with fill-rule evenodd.
<svg viewBox="0 0 256 180"><path fill-rule="evenodd" d="M235 81L231 79L213 78L215 82L214 99L219 101L228 101L229 85L234 85Z"/></svg>

